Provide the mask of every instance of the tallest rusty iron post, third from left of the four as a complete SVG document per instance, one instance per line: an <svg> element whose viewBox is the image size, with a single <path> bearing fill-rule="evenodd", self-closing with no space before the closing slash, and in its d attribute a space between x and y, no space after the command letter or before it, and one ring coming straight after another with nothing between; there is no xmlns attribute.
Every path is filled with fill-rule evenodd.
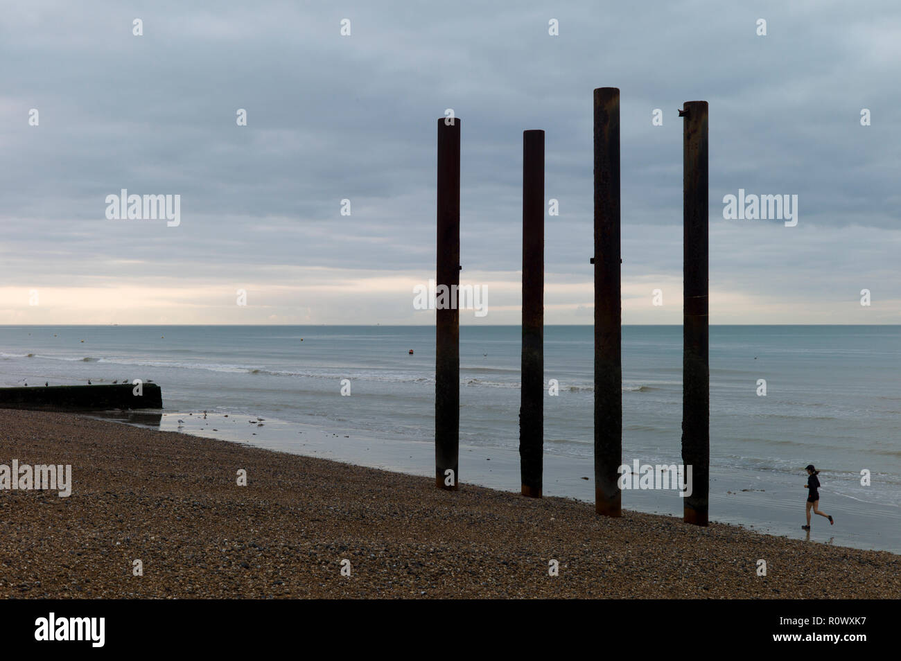
<svg viewBox="0 0 901 661"><path fill-rule="evenodd" d="M595 90L595 512L622 515L619 88Z"/></svg>

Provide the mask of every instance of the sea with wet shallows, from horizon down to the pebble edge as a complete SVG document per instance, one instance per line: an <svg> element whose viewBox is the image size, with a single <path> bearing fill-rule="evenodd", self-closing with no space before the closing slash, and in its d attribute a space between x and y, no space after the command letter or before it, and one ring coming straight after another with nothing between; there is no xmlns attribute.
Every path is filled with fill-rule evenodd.
<svg viewBox="0 0 901 661"><path fill-rule="evenodd" d="M546 496L594 498L593 347L545 327ZM520 349L517 326L460 328L461 484L520 489ZM432 326L0 326L0 385L151 380L162 412L105 416L414 475L434 475L434 367ZM623 327L623 464L681 463L681 378L680 326ZM712 326L710 463L712 521L901 553L901 326ZM810 532L808 464L835 520Z"/></svg>

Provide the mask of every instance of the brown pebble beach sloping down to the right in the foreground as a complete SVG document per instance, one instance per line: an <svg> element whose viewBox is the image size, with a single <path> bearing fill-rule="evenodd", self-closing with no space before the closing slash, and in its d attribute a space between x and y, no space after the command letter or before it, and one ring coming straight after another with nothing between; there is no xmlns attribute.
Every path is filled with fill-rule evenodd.
<svg viewBox="0 0 901 661"><path fill-rule="evenodd" d="M68 497L0 490L4 599L901 598L901 556L884 551L608 519L467 484L442 492L429 478L69 413L0 411L0 427L0 464L70 464L73 483Z"/></svg>

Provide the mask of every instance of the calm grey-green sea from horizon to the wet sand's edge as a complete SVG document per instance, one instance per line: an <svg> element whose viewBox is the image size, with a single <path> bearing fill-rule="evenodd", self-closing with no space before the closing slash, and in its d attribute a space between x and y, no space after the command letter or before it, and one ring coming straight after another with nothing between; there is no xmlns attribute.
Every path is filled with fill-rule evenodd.
<svg viewBox="0 0 901 661"><path fill-rule="evenodd" d="M624 462L680 461L681 332L623 328ZM545 450L584 461L584 475L592 475L592 349L590 326L545 330L545 378L560 382L560 395L545 397ZM518 327L460 329L462 444L516 450L519 351ZM433 438L434 358L433 327L0 327L2 385L151 379L169 412L258 415L401 441ZM901 508L899 367L901 327L712 327L712 469L804 484L802 468L814 463L828 475L824 493ZM341 396L345 378L350 397Z"/></svg>

